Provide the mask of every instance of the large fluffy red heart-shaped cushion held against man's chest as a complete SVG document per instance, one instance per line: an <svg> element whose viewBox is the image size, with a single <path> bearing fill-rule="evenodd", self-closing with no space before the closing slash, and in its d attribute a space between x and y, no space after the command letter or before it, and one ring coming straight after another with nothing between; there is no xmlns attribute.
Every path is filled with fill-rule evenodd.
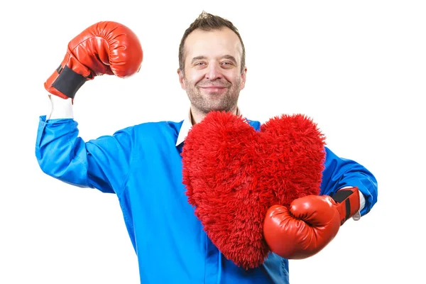
<svg viewBox="0 0 426 284"><path fill-rule="evenodd" d="M212 111L192 127L182 150L186 195L226 258L246 269L263 263L266 211L320 193L324 140L301 114L275 116L256 131L241 116Z"/></svg>

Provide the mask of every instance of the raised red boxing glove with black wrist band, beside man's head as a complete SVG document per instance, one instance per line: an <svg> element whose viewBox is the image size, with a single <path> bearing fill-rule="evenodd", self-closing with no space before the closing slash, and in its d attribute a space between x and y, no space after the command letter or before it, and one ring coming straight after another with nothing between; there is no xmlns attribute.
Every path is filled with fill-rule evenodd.
<svg viewBox="0 0 426 284"><path fill-rule="evenodd" d="M121 23L95 23L68 43L65 58L44 87L62 99L74 99L87 80L99 75L130 77L140 70L142 60L141 43L133 31Z"/></svg>

